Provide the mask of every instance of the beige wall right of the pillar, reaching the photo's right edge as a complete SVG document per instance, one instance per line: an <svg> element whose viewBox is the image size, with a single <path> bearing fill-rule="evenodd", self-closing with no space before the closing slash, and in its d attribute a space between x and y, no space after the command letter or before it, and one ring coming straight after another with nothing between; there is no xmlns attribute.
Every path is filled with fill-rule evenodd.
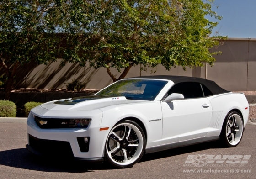
<svg viewBox="0 0 256 179"><path fill-rule="evenodd" d="M222 54L206 66L206 79L227 90L256 90L256 39L228 39L218 50Z"/></svg>

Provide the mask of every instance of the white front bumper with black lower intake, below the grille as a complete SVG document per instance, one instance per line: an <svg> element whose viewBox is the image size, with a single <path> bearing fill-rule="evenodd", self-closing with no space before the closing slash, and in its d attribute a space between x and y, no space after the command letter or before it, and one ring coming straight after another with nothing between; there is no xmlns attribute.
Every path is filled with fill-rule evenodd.
<svg viewBox="0 0 256 179"><path fill-rule="evenodd" d="M30 113L27 119L26 148L37 155L54 155L101 162L109 130L100 131L102 116L92 119L88 128L41 129ZM88 137L88 150L81 150L78 138ZM83 152L81 152L83 151Z"/></svg>

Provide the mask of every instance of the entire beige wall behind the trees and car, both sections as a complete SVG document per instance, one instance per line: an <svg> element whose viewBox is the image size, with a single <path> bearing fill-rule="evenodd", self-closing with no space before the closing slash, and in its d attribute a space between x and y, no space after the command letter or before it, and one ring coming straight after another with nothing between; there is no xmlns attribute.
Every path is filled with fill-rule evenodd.
<svg viewBox="0 0 256 179"><path fill-rule="evenodd" d="M205 65L202 68L181 67L171 68L170 71L159 65L157 68L140 71L139 66L132 67L126 78L145 75L181 75L201 77L215 81L221 87L231 91L256 90L256 39L224 40L224 45L218 47L222 51L216 56L213 67ZM65 88L72 79L79 79L86 83L88 89L102 89L112 83L105 68L93 69L80 67L79 64L67 63L65 66L57 62L48 65L29 63L20 67L16 74L16 88ZM89 66L89 65L87 65ZM0 75L4 73L0 68ZM120 75L115 69L112 73ZM150 73L155 71L155 73Z"/></svg>

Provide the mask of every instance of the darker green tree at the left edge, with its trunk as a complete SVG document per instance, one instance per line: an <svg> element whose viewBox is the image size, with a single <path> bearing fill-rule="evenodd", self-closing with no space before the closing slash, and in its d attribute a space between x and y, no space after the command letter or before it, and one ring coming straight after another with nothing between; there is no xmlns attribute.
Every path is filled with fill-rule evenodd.
<svg viewBox="0 0 256 179"><path fill-rule="evenodd" d="M53 0L0 1L0 66L7 75L5 100L10 97L19 66L57 58L59 14L59 5Z"/></svg>

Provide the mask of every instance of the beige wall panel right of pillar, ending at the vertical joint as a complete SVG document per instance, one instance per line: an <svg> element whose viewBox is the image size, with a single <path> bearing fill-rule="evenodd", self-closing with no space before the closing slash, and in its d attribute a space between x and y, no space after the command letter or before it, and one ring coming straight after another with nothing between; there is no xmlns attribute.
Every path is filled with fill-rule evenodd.
<svg viewBox="0 0 256 179"><path fill-rule="evenodd" d="M227 90L247 90L248 41L224 41L218 50L221 55L211 68L207 65L207 79L216 81Z"/></svg>

